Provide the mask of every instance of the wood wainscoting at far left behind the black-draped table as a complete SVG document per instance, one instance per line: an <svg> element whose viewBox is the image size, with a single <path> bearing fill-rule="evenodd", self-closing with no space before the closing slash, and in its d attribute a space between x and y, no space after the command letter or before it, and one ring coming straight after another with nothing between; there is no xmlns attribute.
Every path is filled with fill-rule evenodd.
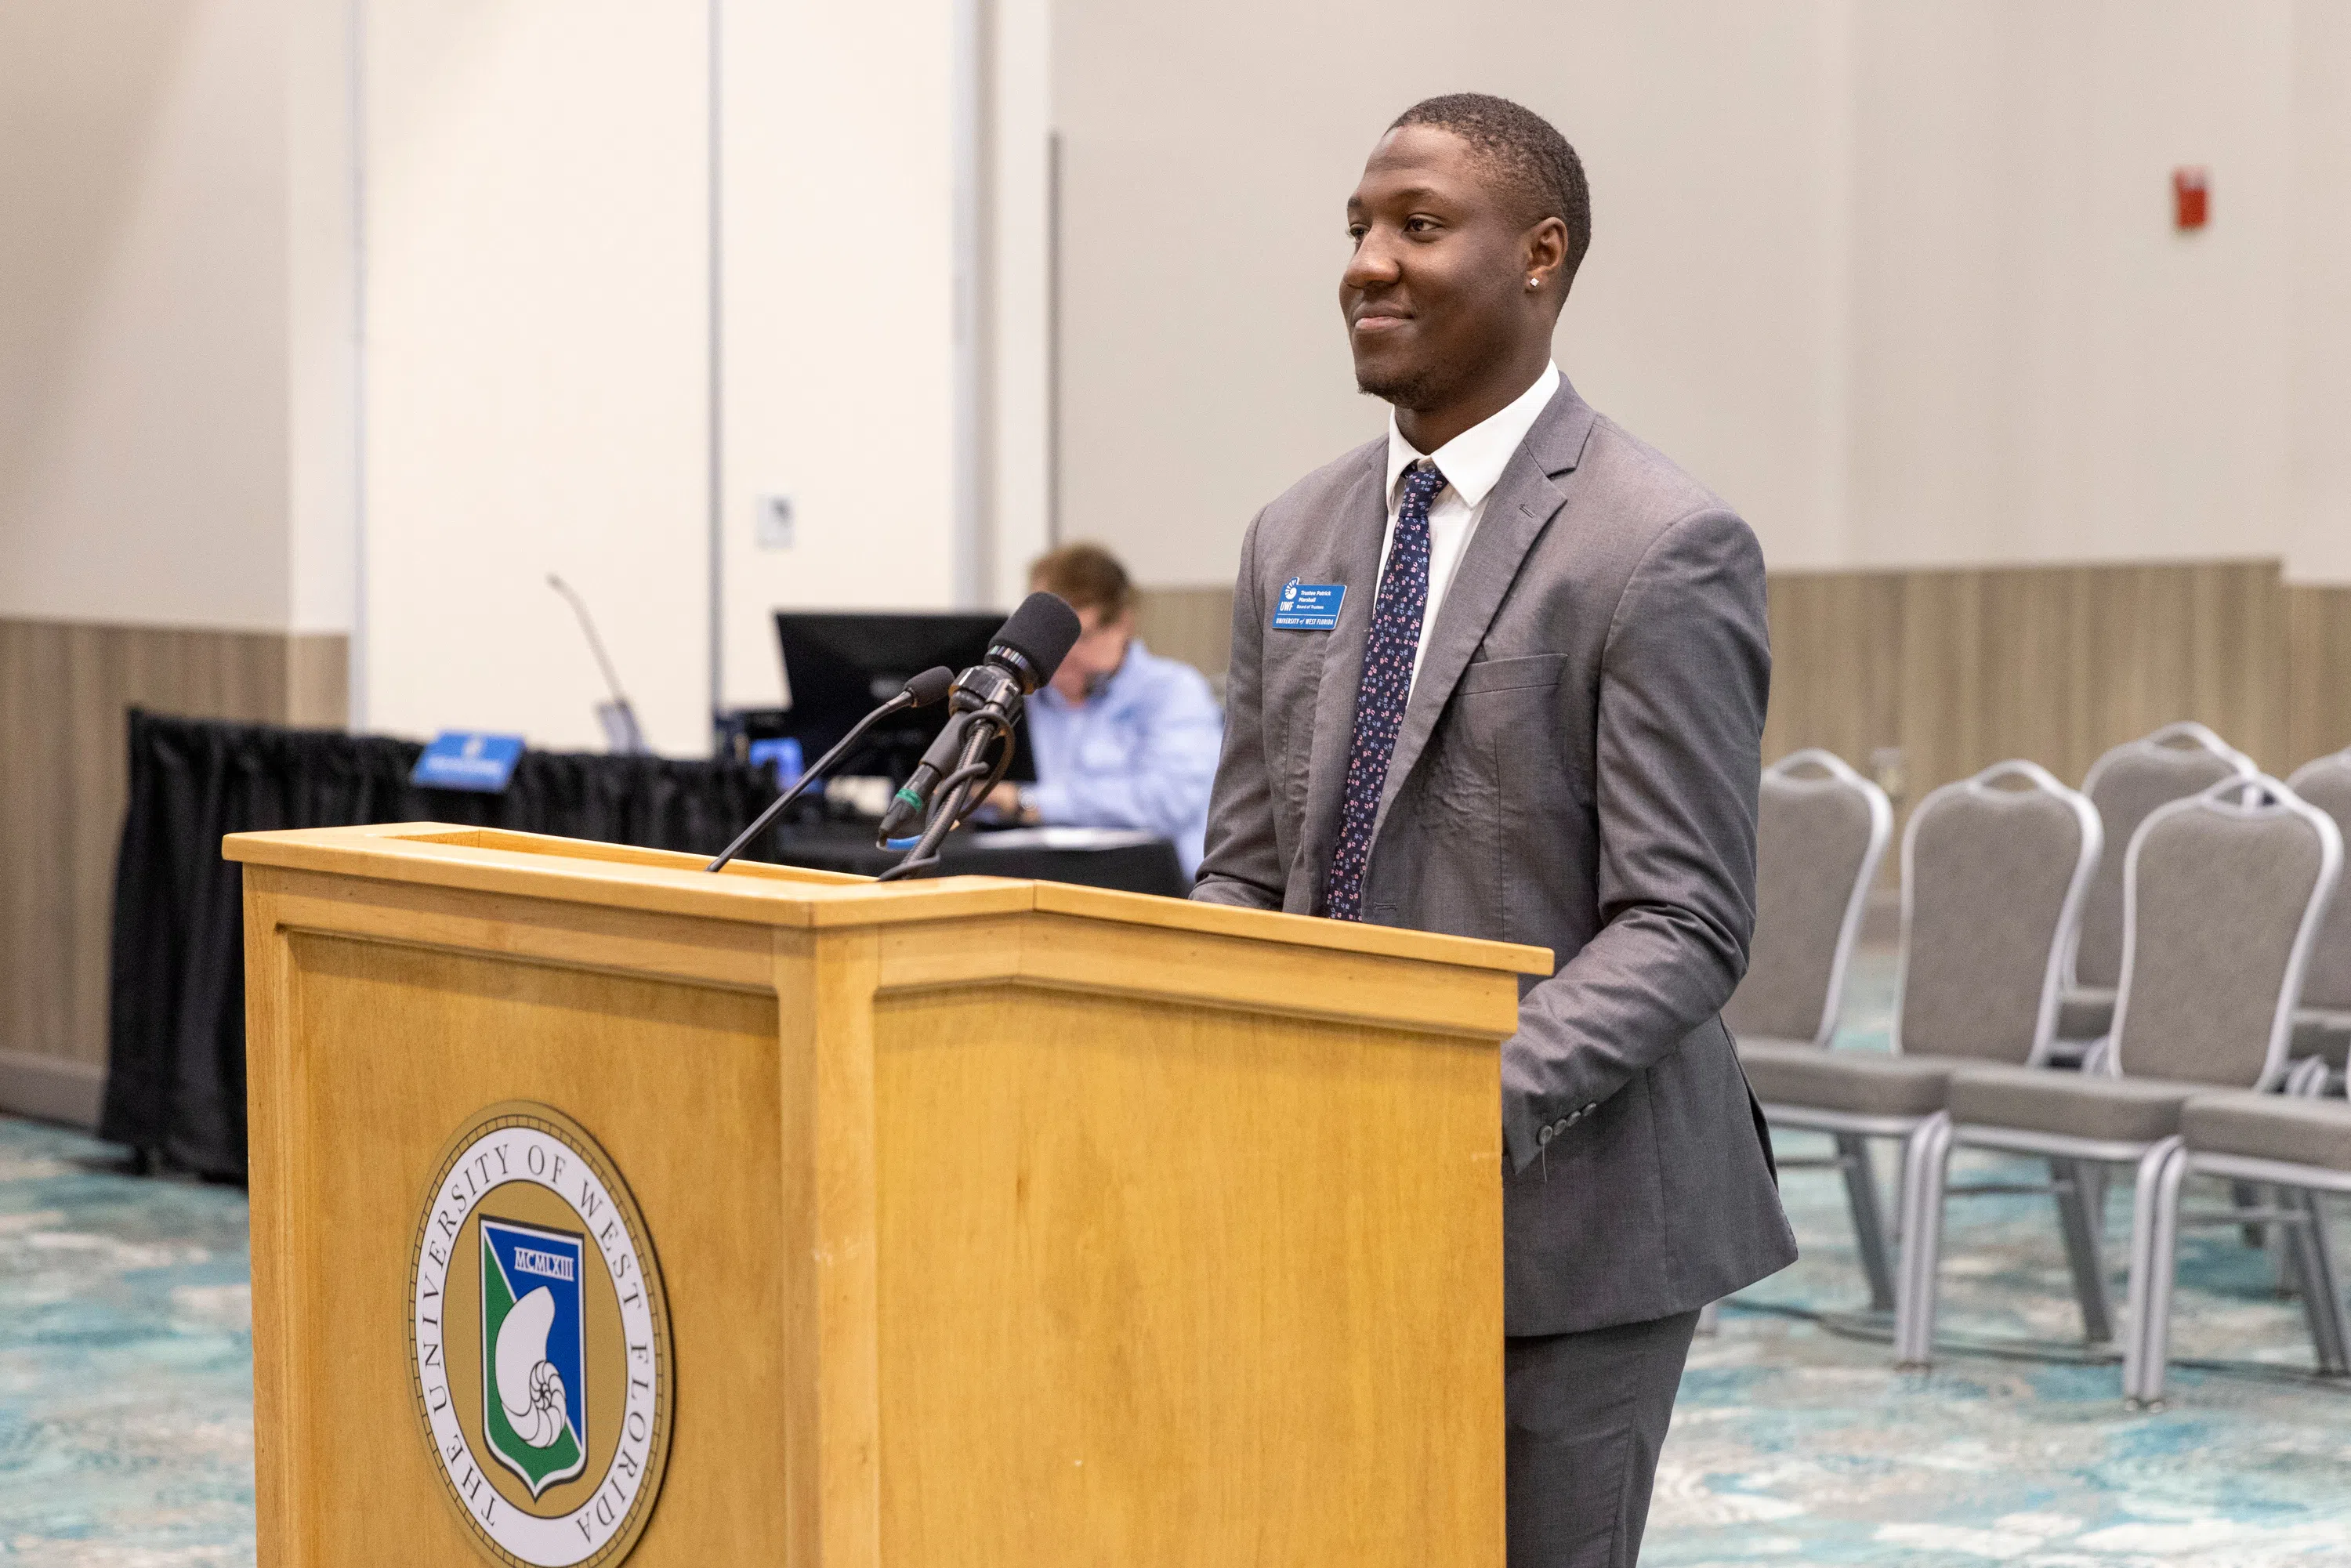
<svg viewBox="0 0 2351 1568"><path fill-rule="evenodd" d="M106 1063L125 710L339 726L346 668L341 635L0 618L0 1051Z"/></svg>

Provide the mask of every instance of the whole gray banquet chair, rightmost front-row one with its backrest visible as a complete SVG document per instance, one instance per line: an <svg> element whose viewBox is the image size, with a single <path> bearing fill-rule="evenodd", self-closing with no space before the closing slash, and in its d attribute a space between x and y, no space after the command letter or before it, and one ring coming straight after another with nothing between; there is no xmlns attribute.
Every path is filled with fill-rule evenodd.
<svg viewBox="0 0 2351 1568"><path fill-rule="evenodd" d="M2335 823L2273 778L2229 778L2158 806L2139 825L2123 858L2111 1048L2085 1072L1956 1072L1944 1112L1911 1143L1897 1363L1925 1366L1933 1356L1942 1199L1958 1145L2137 1166L2125 1363L2137 1359L2156 1190L2179 1152L2179 1112L2215 1088L2269 1091L2285 1081L2302 971L2339 867ZM2102 1291L2095 1227L2076 1234L2069 1218L2076 1286L2085 1248ZM2106 1338L2090 1321L2088 1293L2083 1300L2085 1338ZM2125 1380L2132 1371L2125 1366Z"/></svg>

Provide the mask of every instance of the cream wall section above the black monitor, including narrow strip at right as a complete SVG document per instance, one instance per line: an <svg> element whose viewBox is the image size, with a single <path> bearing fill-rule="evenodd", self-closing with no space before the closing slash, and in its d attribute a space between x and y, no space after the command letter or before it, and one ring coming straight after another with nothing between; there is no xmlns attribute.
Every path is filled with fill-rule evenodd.
<svg viewBox="0 0 2351 1568"><path fill-rule="evenodd" d="M957 9L722 7L729 705L783 696L776 609L945 609L957 583ZM980 9L987 209L978 595L1044 543L1046 0ZM755 543L762 496L795 543Z"/></svg>

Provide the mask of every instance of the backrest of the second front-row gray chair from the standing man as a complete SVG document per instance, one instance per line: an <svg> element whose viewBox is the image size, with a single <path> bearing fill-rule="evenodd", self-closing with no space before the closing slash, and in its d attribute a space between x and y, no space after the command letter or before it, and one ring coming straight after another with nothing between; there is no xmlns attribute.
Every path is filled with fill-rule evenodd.
<svg viewBox="0 0 2351 1568"><path fill-rule="evenodd" d="M2099 851L2097 811L2031 762L1918 802L1902 832L1895 1051L2041 1063Z"/></svg>

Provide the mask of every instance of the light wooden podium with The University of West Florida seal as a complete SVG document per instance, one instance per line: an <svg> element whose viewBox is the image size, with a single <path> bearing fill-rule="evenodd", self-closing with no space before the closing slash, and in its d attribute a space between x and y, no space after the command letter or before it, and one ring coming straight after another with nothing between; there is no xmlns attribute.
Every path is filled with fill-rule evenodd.
<svg viewBox="0 0 2351 1568"><path fill-rule="evenodd" d="M1549 952L430 823L226 853L263 1563L1500 1568Z"/></svg>

